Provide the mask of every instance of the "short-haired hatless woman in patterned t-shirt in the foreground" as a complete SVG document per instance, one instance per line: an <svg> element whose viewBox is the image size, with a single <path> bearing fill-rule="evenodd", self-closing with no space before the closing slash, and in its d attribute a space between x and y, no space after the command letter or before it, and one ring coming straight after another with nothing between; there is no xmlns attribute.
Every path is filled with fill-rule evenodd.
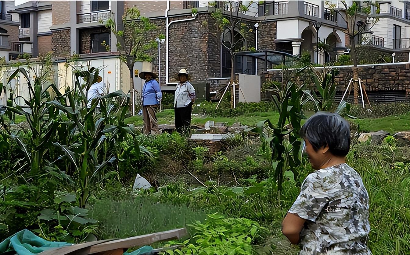
<svg viewBox="0 0 410 255"><path fill-rule="evenodd" d="M282 232L301 255L369 255L369 195L362 178L346 164L349 123L319 112L301 128L314 172L302 184Z"/></svg>

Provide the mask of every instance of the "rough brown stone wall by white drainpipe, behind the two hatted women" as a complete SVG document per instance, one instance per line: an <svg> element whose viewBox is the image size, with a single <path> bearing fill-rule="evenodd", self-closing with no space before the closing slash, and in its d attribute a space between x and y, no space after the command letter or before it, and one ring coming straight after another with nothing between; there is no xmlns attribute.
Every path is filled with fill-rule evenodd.
<svg viewBox="0 0 410 255"><path fill-rule="evenodd" d="M182 20L190 16L170 18ZM165 19L155 19L152 22L158 30L147 38L155 38L158 34L166 34ZM186 68L192 83L204 83L208 77L219 77L220 74L219 32L215 21L209 13L198 14L195 20L173 23L169 28L169 81L176 82L177 72ZM151 51L157 72L157 48ZM162 84L166 82L166 43L161 45L161 75Z"/></svg>

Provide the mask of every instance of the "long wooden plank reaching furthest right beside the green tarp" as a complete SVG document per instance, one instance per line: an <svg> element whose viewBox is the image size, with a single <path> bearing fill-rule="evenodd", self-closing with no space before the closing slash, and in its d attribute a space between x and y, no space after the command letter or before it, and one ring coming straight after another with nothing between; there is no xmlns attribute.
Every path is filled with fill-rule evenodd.
<svg viewBox="0 0 410 255"><path fill-rule="evenodd" d="M104 242L101 244L96 244L93 246L89 246L87 248L82 248L81 250L77 250L73 253L67 253L69 255L88 255L88 254L95 254L104 251L112 251L116 249L128 249L130 247L136 246L144 246L147 244L152 244L158 241L166 241L171 239L179 239L180 237L184 236L187 233L185 228L179 228L164 232L158 232L148 235L140 235L136 237L130 237L125 239L113 240L109 242Z"/></svg>

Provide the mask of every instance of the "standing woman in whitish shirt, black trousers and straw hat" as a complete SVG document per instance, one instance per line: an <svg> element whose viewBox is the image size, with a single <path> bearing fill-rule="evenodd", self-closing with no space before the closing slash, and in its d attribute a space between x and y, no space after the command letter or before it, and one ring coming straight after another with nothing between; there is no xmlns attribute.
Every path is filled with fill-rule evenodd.
<svg viewBox="0 0 410 255"><path fill-rule="evenodd" d="M183 133L191 128L192 105L195 101L195 89L188 81L187 70L181 69L178 72L180 81L175 90L174 112L175 129Z"/></svg>

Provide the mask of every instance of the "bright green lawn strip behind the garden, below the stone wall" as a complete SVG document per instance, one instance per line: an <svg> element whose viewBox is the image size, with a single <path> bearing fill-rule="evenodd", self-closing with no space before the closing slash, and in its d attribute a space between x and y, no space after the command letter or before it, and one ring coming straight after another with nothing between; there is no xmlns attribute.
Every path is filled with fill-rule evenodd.
<svg viewBox="0 0 410 255"><path fill-rule="evenodd" d="M312 113L307 113L307 116L311 116ZM173 109L163 110L157 113L159 124L173 124L174 123L174 111ZM233 117L198 117L192 116L192 124L204 125L207 121L215 121L232 125L234 123L241 123L242 125L253 126L258 121L270 119L275 123L279 118L277 112L252 112L241 116ZM133 123L134 125L143 125L142 116L133 116L125 120L126 123ZM397 116L386 116L379 119L351 119L355 124L360 126L360 130L364 132L376 132L384 130L392 134L399 131L410 130L410 113L401 114ZM302 124L305 120L302 121Z"/></svg>

